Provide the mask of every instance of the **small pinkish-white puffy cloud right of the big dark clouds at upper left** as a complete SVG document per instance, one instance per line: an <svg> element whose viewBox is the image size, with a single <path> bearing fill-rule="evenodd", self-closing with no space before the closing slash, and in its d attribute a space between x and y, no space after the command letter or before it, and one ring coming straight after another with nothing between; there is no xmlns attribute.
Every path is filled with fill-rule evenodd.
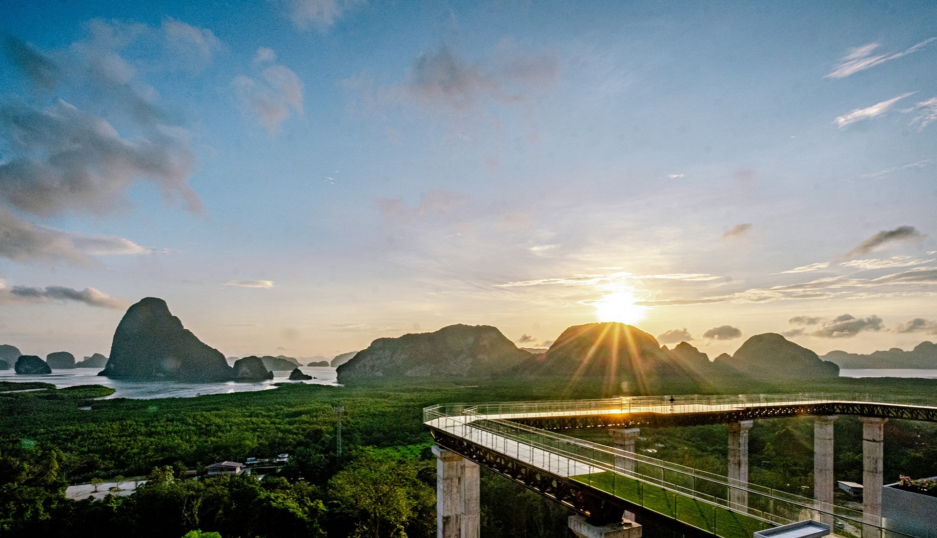
<svg viewBox="0 0 937 538"><path fill-rule="evenodd" d="M273 64L275 59L272 50L260 47L254 55L254 65L260 69L256 78L238 75L231 81L242 112L271 136L293 112L303 115L303 82L290 68Z"/></svg>

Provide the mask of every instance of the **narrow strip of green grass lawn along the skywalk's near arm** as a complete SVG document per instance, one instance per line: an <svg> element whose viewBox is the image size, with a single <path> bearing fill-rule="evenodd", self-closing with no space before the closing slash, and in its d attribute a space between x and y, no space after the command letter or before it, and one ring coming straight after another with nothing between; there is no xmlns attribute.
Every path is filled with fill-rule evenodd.
<svg viewBox="0 0 937 538"><path fill-rule="evenodd" d="M751 538L754 531L773 527L753 517L697 501L658 486L650 486L633 478L616 476L609 471L580 474L570 478L722 538Z"/></svg>

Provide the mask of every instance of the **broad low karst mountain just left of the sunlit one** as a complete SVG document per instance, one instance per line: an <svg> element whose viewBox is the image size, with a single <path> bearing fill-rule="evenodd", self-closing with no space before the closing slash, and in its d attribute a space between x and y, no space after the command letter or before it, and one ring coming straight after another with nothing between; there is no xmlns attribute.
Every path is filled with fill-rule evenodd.
<svg viewBox="0 0 937 538"><path fill-rule="evenodd" d="M486 377L510 370L530 356L495 327L456 324L434 333L378 338L338 366L338 381L360 377Z"/></svg>

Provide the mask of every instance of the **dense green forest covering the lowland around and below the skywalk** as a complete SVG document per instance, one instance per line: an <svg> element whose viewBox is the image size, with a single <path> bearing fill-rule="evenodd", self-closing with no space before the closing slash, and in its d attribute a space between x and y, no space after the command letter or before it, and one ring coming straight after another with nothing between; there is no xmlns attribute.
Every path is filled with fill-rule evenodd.
<svg viewBox="0 0 937 538"><path fill-rule="evenodd" d="M112 531L177 538L201 530L224 538L428 537L435 534L435 463L422 424L425 406L612 396L601 381L462 382L286 384L271 391L152 400L96 400L94 396L110 394L110 389L96 386L37 386L30 388L41 390L0 393L0 534L85 536ZM857 392L933 403L934 388L937 381L835 380L810 386L671 385L643 392ZM335 453L335 406L345 408L340 459ZM861 424L840 417L835 428L837 479L858 480ZM609 441L602 430L567 433ZM648 456L725 472L723 426L646 427L642 437L638 450L656 451L645 452ZM890 421L885 443L886 477L937 474L934 425ZM375 448L365 450L368 446ZM811 496L811 447L810 419L756 422L750 434L752 482ZM290 463L279 476L262 482L250 477L178 479L181 471L216 461L284 452L290 453ZM148 475L155 468L153 482L132 496L104 501L62 497L67 484ZM485 536L567 536L566 509L491 473L483 472L482 481ZM380 489L368 491L369 485Z"/></svg>

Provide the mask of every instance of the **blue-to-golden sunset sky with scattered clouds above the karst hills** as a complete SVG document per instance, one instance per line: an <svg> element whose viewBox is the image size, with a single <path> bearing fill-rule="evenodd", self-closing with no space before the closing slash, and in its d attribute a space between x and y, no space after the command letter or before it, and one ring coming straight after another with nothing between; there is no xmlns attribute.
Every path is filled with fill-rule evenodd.
<svg viewBox="0 0 937 538"><path fill-rule="evenodd" d="M937 338L932 2L0 0L0 343Z"/></svg>

